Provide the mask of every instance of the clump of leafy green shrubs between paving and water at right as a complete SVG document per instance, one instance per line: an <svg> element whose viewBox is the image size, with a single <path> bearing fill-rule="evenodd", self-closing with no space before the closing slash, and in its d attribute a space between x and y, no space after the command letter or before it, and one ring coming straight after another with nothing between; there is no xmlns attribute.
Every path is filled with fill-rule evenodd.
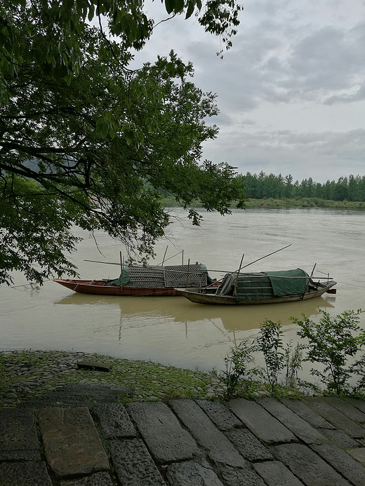
<svg viewBox="0 0 365 486"><path fill-rule="evenodd" d="M319 377L325 392L364 396L365 356L357 358L365 344L365 330L359 326L361 309L344 311L332 318L321 309L319 312L319 323L314 323L304 315L303 320L291 317L300 328L298 336L306 339L306 344L298 343L293 348L290 343L284 347L281 323L265 320L260 326L258 337L252 341L245 339L233 349L231 355L225 358L227 397L230 398L239 389L244 396L252 396L263 386L271 396L282 395L285 387L320 393L317 385L298 378L302 361L321 365L322 370L312 367L310 373ZM305 358L304 349L307 350ZM263 353L265 367L252 365L253 353L258 352ZM354 358L352 363L349 363L349 358ZM350 379L354 376L361 378L351 391Z"/></svg>

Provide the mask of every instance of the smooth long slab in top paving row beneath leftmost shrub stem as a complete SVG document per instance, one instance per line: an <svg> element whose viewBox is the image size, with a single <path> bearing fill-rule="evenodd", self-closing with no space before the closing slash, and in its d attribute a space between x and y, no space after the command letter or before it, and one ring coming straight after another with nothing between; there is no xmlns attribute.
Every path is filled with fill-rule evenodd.
<svg viewBox="0 0 365 486"><path fill-rule="evenodd" d="M256 437L267 444L295 442L298 439L279 420L251 400L234 398L228 403L230 409Z"/></svg>

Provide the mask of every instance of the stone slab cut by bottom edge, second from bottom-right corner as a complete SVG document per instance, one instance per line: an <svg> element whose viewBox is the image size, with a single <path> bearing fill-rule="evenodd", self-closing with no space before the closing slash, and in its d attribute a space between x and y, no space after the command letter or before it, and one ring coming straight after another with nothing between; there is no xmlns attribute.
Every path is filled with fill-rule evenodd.
<svg viewBox="0 0 365 486"><path fill-rule="evenodd" d="M350 482L306 445L275 445L271 452L306 486L350 486Z"/></svg>

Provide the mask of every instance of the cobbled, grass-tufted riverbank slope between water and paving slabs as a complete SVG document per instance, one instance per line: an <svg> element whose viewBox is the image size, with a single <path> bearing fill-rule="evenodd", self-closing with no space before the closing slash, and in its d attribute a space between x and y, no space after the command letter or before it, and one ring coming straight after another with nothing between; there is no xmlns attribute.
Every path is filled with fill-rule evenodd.
<svg viewBox="0 0 365 486"><path fill-rule="evenodd" d="M0 408L16 407L71 384L124 387L123 401L223 398L214 373L140 360L64 351L0 351Z"/></svg>

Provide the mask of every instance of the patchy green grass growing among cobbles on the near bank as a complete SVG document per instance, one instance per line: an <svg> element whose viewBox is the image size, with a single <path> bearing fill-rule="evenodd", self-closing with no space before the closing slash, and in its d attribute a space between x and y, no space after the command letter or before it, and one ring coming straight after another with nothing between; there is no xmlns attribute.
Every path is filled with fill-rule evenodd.
<svg viewBox="0 0 365 486"><path fill-rule="evenodd" d="M140 360L123 360L104 355L92 355L92 358L107 361L109 372L83 370L67 367L65 371L47 372L57 367L62 358L69 353L58 351L14 351L0 352L0 393L8 389L25 386L25 382L35 382L29 396L39 396L45 391L60 388L68 384L88 383L104 385L132 386L134 396L129 400L164 400L166 398L206 398L212 385L217 385L217 377L212 373L184 370L178 367L159 365ZM79 359L84 359L80 356ZM11 366L26 363L24 369L31 373L9 375L5 372L4 361ZM22 397L20 397L21 399ZM123 399L128 401L128 399ZM0 405L1 406L1 405Z"/></svg>

